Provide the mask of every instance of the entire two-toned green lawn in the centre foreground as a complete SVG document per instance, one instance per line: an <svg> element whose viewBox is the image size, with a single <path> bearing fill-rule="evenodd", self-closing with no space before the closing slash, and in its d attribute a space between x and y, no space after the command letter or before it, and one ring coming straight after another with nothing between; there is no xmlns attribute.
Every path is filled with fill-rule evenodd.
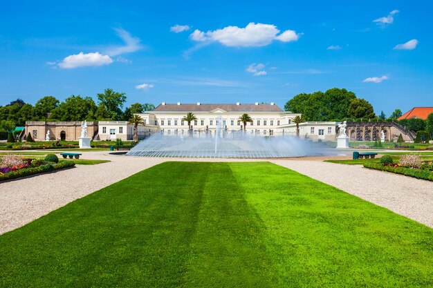
<svg viewBox="0 0 433 288"><path fill-rule="evenodd" d="M0 236L0 287L432 287L432 247L275 164L168 162Z"/></svg>

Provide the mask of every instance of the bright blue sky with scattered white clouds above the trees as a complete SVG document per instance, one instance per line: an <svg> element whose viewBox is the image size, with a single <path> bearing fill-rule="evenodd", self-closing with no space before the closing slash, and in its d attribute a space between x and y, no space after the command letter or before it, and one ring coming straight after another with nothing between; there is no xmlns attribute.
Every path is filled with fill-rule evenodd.
<svg viewBox="0 0 433 288"><path fill-rule="evenodd" d="M430 1L61 2L3 1L0 105L113 88L283 107L339 87L376 113L433 106Z"/></svg>

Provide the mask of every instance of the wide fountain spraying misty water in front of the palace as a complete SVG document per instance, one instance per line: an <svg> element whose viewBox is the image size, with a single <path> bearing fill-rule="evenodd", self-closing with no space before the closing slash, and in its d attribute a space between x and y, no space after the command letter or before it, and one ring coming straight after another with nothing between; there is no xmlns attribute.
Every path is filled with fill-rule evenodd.
<svg viewBox="0 0 433 288"><path fill-rule="evenodd" d="M208 158L280 158L323 155L317 146L295 136L264 137L246 131L227 131L223 118L216 120L212 131L155 134L127 153L143 157L208 157ZM179 132L179 133L178 133Z"/></svg>

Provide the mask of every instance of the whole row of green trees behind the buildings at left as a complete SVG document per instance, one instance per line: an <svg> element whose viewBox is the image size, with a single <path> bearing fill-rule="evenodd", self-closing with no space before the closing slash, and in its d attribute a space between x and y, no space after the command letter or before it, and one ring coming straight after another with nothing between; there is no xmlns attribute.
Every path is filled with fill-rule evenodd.
<svg viewBox="0 0 433 288"><path fill-rule="evenodd" d="M0 131L11 131L16 126L24 126L26 121L120 121L129 120L133 113L143 113L155 108L154 104L134 103L123 109L127 97L125 93L110 88L92 97L71 95L60 102L54 96L39 99L35 106L22 99L0 106Z"/></svg>

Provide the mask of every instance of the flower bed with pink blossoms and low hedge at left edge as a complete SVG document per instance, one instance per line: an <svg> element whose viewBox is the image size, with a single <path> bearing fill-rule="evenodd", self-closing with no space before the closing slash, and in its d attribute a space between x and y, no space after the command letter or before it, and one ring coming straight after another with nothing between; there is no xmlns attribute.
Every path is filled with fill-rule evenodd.
<svg viewBox="0 0 433 288"><path fill-rule="evenodd" d="M33 160L14 155L5 155L0 158L0 182L72 166L75 166L75 163L72 161L62 161L55 164L40 159Z"/></svg>

